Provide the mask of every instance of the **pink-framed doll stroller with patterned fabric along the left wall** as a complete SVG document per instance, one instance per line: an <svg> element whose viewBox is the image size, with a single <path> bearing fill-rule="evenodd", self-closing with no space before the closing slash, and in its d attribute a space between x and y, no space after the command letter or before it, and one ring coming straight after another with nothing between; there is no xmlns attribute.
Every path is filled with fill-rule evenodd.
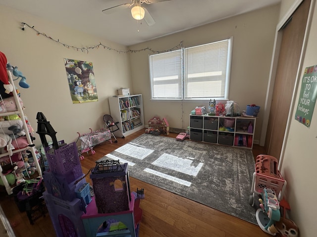
<svg viewBox="0 0 317 237"><path fill-rule="evenodd" d="M111 135L110 135L110 131L109 130L104 130L104 129L100 129L100 130L96 130L93 131L91 128L90 129L90 133L85 133L80 135L79 132L78 133L78 139L76 141L76 143L78 142L78 140L81 141L81 151L79 154L79 159L83 160L84 156L82 155L83 153L91 151L91 154L94 155L96 152L93 150L93 148L98 145L101 144L105 141L108 141L110 143L112 143L111 141Z"/></svg>

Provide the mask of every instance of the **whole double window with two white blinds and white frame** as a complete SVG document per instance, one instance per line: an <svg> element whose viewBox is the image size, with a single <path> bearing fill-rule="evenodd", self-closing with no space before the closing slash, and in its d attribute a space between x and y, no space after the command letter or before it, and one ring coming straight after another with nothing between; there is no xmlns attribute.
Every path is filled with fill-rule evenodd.
<svg viewBox="0 0 317 237"><path fill-rule="evenodd" d="M231 41L150 55L152 99L227 99Z"/></svg>

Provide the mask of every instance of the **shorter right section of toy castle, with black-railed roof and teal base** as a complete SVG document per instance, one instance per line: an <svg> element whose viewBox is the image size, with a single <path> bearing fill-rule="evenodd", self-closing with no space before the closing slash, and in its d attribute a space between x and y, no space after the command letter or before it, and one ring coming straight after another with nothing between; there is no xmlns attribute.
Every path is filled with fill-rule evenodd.
<svg viewBox="0 0 317 237"><path fill-rule="evenodd" d="M128 164L119 160L96 161L90 178L95 196L81 216L86 236L137 237L143 190L130 193Z"/></svg>

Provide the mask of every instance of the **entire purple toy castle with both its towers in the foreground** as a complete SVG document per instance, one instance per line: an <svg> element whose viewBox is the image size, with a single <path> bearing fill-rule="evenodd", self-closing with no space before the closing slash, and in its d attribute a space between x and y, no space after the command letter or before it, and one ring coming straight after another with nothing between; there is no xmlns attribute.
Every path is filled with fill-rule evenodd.
<svg viewBox="0 0 317 237"><path fill-rule="evenodd" d="M82 173L76 143L57 142L53 127L38 113L38 131L50 170L44 172L43 193L57 237L118 236L137 237L143 190L131 195L128 164L118 160L96 162L91 171L94 197ZM46 136L53 144L48 145Z"/></svg>

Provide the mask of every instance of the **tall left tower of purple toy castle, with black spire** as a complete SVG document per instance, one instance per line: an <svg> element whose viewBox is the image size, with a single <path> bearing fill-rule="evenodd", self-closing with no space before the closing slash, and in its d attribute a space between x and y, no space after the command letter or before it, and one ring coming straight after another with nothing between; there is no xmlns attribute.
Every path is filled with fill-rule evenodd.
<svg viewBox="0 0 317 237"><path fill-rule="evenodd" d="M38 131L45 147L50 170L44 171L46 191L43 193L57 237L85 237L80 216L84 213L85 201L76 197L76 191L86 183L82 172L76 143L57 141L56 132L42 113L37 114ZM53 144L48 145L46 136Z"/></svg>

